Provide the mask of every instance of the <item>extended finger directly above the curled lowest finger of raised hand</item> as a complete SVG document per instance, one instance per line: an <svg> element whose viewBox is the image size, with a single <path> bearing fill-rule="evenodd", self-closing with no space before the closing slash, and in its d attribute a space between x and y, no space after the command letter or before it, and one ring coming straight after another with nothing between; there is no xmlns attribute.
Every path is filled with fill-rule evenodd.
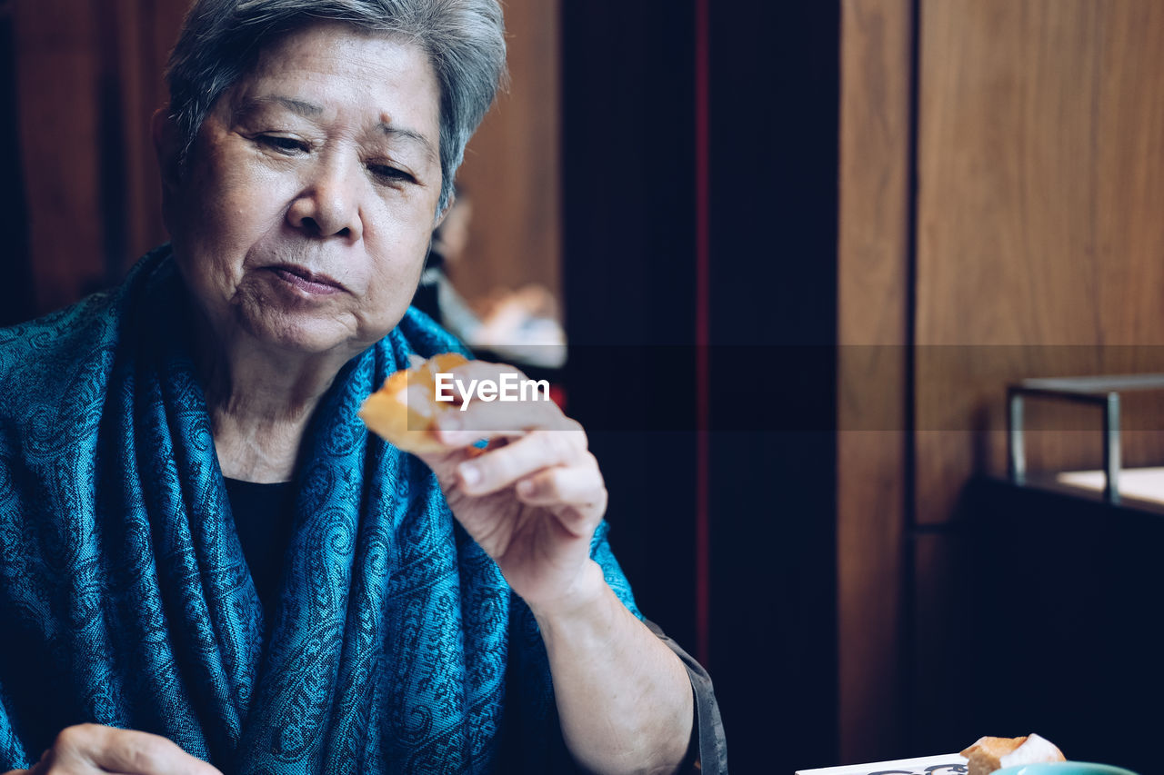
<svg viewBox="0 0 1164 775"><path fill-rule="evenodd" d="M483 496L513 485L518 479L553 467L587 467L597 474L598 464L585 449L581 431L534 431L484 455L456 467L459 484L466 495ZM601 479L601 476L598 476Z"/></svg>

